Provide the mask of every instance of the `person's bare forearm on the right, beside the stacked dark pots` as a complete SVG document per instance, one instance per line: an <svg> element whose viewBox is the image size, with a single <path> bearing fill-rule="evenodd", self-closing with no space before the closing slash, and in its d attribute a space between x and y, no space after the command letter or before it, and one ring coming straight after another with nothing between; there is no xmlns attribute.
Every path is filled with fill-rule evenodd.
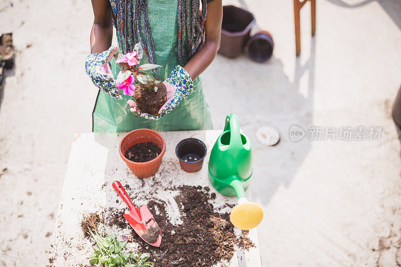
<svg viewBox="0 0 401 267"><path fill-rule="evenodd" d="M209 3L207 20L205 21L205 44L184 66L184 69L188 72L192 80L204 72L215 59L220 47L222 20L222 0L215 0Z"/></svg>

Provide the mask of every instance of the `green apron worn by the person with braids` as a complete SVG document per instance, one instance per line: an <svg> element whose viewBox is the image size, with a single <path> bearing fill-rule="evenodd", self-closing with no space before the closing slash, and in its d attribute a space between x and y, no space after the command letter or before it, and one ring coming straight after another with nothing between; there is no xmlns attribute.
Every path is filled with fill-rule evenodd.
<svg viewBox="0 0 401 267"><path fill-rule="evenodd" d="M170 75L175 66L179 65L177 6L177 0L148 2L148 18L156 50L156 64L163 66L157 68L162 81ZM141 27L143 33L143 19ZM118 32L117 38L119 38ZM121 67L114 62L114 59L110 63L114 79L116 79ZM140 64L145 63L148 63L146 55ZM148 73L151 75L151 72ZM127 100L132 97L128 95L122 95L122 97L123 100L117 100L99 91L93 109L93 132L128 132L139 128L149 128L155 131L212 129L209 107L199 77L193 81L193 90L189 96L157 121L135 117L129 111L127 104Z"/></svg>

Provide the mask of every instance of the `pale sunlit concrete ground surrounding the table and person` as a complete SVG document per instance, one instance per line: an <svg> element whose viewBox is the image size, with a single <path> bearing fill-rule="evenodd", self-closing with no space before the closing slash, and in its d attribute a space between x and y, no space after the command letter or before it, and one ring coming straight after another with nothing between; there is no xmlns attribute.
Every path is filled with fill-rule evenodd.
<svg viewBox="0 0 401 267"><path fill-rule="evenodd" d="M16 68L0 105L0 264L46 264L71 141L91 131L96 90L84 71L90 1L0 3ZM266 266L401 264L399 141L390 110L401 84L401 1L322 0L316 37L307 4L295 57L291 1L240 0L272 33L274 55L256 64L218 56L203 75L215 129L234 112L251 138L254 199ZM291 142L289 128L381 126L379 141ZM274 147L255 132L271 125ZM307 135L308 133L306 133Z"/></svg>

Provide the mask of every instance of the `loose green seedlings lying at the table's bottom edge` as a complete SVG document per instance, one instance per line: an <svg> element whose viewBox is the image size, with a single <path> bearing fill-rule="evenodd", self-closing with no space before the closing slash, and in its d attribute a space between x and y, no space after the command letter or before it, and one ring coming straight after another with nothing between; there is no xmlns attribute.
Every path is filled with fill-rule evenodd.
<svg viewBox="0 0 401 267"><path fill-rule="evenodd" d="M130 253L124 252L127 241L118 241L115 233L108 234L105 238L97 231L89 229L90 234L95 239L93 246L95 252L92 253L89 263L106 267L153 267L154 263L147 261L149 253Z"/></svg>

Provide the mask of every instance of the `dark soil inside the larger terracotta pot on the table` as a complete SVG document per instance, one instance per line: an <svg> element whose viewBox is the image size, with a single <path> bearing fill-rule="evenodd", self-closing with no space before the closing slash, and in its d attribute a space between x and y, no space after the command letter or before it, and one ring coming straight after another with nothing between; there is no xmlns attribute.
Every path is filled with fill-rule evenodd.
<svg viewBox="0 0 401 267"><path fill-rule="evenodd" d="M152 142L139 143L128 148L125 157L134 162L146 162L157 157L161 152L158 145Z"/></svg>

